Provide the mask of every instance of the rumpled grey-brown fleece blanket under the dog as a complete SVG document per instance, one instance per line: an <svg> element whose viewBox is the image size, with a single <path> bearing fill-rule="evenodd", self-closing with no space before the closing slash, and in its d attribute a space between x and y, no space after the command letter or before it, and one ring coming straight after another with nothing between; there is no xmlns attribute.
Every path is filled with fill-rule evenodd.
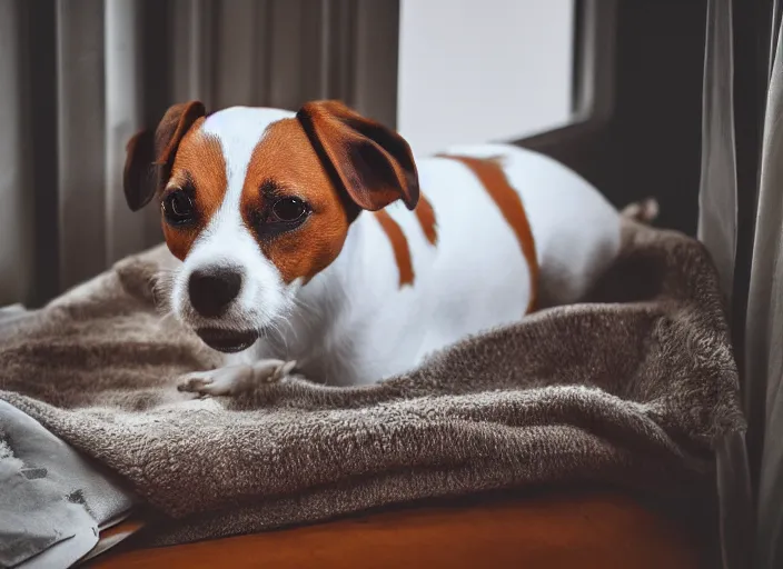
<svg viewBox="0 0 783 569"><path fill-rule="evenodd" d="M162 248L129 258L0 338L0 399L162 515L151 543L544 482L710 489L715 446L744 428L715 270L676 232L628 220L584 303L410 373L294 377L238 399L176 389L218 358L155 308L171 262Z"/></svg>

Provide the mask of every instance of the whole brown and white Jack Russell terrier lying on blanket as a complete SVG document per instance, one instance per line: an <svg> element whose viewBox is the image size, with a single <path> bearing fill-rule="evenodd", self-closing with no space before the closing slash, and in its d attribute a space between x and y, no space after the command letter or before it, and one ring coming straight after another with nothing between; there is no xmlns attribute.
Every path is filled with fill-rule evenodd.
<svg viewBox="0 0 783 569"><path fill-rule="evenodd" d="M369 383L543 306L614 260L621 213L585 180L506 144L415 160L336 101L298 112L171 107L128 143L125 193L157 197L170 310L225 366L179 389L238 395L297 369Z"/></svg>

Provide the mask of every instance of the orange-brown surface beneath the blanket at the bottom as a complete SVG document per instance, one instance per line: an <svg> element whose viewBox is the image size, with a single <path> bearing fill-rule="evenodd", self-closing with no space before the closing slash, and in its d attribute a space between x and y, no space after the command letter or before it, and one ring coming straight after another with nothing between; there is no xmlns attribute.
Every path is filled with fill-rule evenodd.
<svg viewBox="0 0 783 569"><path fill-rule="evenodd" d="M628 496L557 492L110 552L93 567L692 569L703 567L700 549L683 527Z"/></svg>

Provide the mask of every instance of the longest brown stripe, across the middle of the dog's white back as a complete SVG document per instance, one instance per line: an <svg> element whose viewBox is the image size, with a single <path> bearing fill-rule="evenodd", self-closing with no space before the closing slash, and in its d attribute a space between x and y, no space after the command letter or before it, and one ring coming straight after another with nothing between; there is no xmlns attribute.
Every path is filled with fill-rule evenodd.
<svg viewBox="0 0 783 569"><path fill-rule="evenodd" d="M522 253L531 270L531 300L527 305L526 313L535 309L538 296L538 260L533 240L531 223L525 213L525 206L522 203L519 194L508 183L500 164L503 161L498 157L492 159L480 159L467 156L439 154L442 158L457 160L468 167L484 186L493 201L497 204L503 217L511 226L519 242Z"/></svg>

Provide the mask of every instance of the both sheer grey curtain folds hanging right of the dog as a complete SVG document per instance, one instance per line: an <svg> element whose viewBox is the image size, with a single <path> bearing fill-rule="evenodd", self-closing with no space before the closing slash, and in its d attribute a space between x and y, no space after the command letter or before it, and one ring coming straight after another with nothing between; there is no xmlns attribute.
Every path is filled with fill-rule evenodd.
<svg viewBox="0 0 783 569"><path fill-rule="evenodd" d="M731 0L710 0L708 6L700 237L733 305L733 327L744 332L736 350L737 359L744 362L742 390L749 421L746 441L744 437L722 441L718 452L724 565L772 569L783 567L781 2L769 2L767 7L772 28L765 108L760 117L762 140L755 157L757 183L739 188L731 77L735 64L754 62L735 60L732 54ZM752 208L752 214L740 221L737 197ZM750 253L737 249L737 231L743 230L753 236ZM736 278L743 278L742 267L750 267L747 298L732 298Z"/></svg>

